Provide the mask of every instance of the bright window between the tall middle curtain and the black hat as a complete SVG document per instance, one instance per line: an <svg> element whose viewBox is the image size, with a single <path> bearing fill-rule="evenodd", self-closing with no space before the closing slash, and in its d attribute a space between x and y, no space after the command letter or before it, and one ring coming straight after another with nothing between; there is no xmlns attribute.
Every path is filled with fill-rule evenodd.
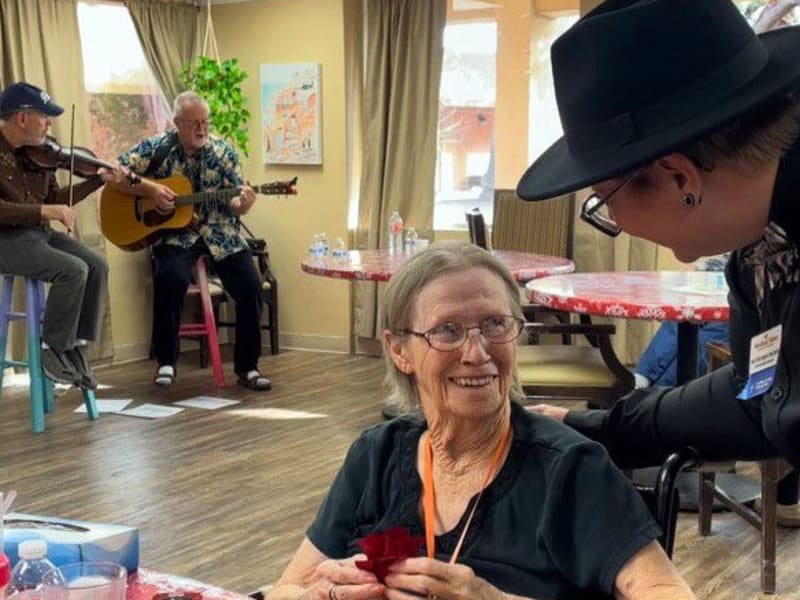
<svg viewBox="0 0 800 600"><path fill-rule="evenodd" d="M562 133L550 45L577 13L532 15L529 0L483 6L495 8L453 9L445 26L437 230L466 229L464 213L475 207L491 224L495 188L516 187L530 162Z"/></svg>

